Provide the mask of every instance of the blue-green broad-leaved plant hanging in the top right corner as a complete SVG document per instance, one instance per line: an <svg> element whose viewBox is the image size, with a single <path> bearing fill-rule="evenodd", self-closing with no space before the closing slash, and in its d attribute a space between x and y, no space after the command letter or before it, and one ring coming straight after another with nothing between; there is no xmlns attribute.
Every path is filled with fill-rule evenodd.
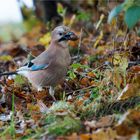
<svg viewBox="0 0 140 140"><path fill-rule="evenodd" d="M125 0L122 4L116 6L109 14L108 22L124 11L124 21L128 28L133 28L140 20L140 0Z"/></svg>

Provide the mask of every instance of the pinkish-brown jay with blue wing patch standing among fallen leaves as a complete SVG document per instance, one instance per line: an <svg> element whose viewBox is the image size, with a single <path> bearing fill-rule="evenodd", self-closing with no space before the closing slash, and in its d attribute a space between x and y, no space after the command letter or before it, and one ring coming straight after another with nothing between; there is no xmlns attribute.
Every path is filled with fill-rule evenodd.
<svg viewBox="0 0 140 140"><path fill-rule="evenodd" d="M78 36L69 27L58 26L51 32L51 42L47 50L16 71L0 73L0 76L22 75L38 91L49 86L49 94L56 100L54 87L64 79L71 63L67 41L76 41L77 39Z"/></svg>

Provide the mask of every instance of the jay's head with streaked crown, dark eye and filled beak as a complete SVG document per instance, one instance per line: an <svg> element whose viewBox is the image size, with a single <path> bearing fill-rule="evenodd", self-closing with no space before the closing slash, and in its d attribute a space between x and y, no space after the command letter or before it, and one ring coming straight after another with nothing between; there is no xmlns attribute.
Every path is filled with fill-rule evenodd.
<svg viewBox="0 0 140 140"><path fill-rule="evenodd" d="M75 41L78 37L67 26L58 26L52 31L52 41L62 43L68 40Z"/></svg>

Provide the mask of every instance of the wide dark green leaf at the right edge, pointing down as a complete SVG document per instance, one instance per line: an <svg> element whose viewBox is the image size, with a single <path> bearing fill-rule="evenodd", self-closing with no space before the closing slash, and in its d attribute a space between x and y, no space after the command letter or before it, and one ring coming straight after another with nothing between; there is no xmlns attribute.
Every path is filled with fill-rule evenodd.
<svg viewBox="0 0 140 140"><path fill-rule="evenodd" d="M125 13L125 22L129 29L140 20L140 6L132 6Z"/></svg>

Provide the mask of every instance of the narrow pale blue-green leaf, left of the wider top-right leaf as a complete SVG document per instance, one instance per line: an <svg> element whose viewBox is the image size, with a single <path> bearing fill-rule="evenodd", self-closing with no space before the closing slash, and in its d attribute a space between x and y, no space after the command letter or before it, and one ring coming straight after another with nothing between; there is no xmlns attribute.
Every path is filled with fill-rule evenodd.
<svg viewBox="0 0 140 140"><path fill-rule="evenodd" d="M108 17L108 23L110 23L112 21L112 19L114 17L116 17L121 11L123 10L123 4L118 5L117 7L115 7L109 14Z"/></svg>

